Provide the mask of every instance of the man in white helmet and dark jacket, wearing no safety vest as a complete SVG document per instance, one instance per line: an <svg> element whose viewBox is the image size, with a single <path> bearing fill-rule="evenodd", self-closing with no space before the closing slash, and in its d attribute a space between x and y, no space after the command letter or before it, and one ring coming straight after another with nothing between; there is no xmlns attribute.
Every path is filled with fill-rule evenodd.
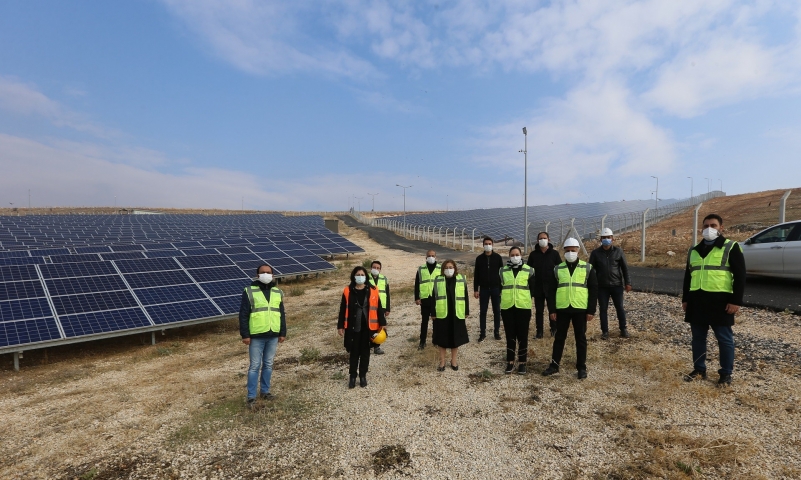
<svg viewBox="0 0 801 480"><path fill-rule="evenodd" d="M612 245L615 237L612 229L601 231L601 246L590 254L589 264L598 276L598 305L601 317L601 340L609 338L609 297L617 312L617 323L621 338L629 338L626 325L626 310L623 309L623 292L631 291L631 277L623 249Z"/></svg>

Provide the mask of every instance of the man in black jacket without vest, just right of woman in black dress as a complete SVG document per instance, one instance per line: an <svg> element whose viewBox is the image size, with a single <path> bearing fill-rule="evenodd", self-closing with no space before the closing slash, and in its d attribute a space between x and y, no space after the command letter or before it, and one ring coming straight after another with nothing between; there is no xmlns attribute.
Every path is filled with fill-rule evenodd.
<svg viewBox="0 0 801 480"><path fill-rule="evenodd" d="M495 340L501 339L501 277L503 258L493 251L492 238L484 237L484 253L476 257L473 273L473 295L479 299L478 341L487 338L487 309L492 300L492 316L495 326Z"/></svg>

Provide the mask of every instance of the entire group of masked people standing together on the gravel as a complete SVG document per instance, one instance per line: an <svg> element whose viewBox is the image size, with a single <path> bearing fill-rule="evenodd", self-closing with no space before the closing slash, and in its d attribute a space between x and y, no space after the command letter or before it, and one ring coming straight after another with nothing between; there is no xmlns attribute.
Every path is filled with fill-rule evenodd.
<svg viewBox="0 0 801 480"><path fill-rule="evenodd" d="M742 305L745 287L745 261L740 246L721 235L723 219L716 214L704 219L703 240L687 255L682 308L692 331L693 371L687 381L706 378L706 339L712 328L720 348L718 383L731 383L734 366L734 315ZM487 337L487 313L492 304L493 335L501 340L500 327L506 336L505 373L527 373L529 326L532 309L535 315L535 338L544 337L544 312L547 304L549 330L553 340L551 361L542 372L553 375L560 362L572 325L576 343L576 370L579 379L587 378L587 323L600 310L601 339L609 338L609 300L617 312L621 338L629 338L624 292L631 291L631 277L623 250L613 244L613 232L601 232L601 245L588 261L579 259L581 244L567 238L564 259L551 243L547 232L537 235L537 246L523 262L523 252L513 246L509 259L503 261L494 251L490 237L483 239L483 253L475 261L473 295L479 300L479 336ZM381 273L381 262L373 261L368 272L357 266L350 273L350 283L343 289L337 332L344 338L350 354L348 387L367 386L371 353L382 354L380 343L386 338L390 314L389 281ZM257 391L264 399L272 398L270 378L278 343L286 338L283 293L276 287L272 267L259 267L258 279L245 288L240 308L240 334L249 346L247 402L253 405ZM419 349L426 347L429 322L433 324L432 343L438 348L438 371L450 366L459 370L459 347L469 342L466 319L470 314L467 279L453 260L437 262L436 252L426 252L426 261L415 275L414 301L420 306ZM449 365L447 350L451 351ZM261 376L259 376L261 370ZM259 380L259 378L261 380Z"/></svg>

